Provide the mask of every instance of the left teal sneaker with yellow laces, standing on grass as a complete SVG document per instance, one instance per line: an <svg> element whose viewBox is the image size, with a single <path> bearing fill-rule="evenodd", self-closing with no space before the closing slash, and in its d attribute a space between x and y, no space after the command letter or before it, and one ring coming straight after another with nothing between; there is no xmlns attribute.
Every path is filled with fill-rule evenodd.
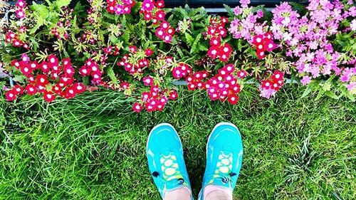
<svg viewBox="0 0 356 200"><path fill-rule="evenodd" d="M183 186L187 186L192 195L182 142L172 125L162 123L151 130L146 153L150 173L162 199L166 191Z"/></svg>

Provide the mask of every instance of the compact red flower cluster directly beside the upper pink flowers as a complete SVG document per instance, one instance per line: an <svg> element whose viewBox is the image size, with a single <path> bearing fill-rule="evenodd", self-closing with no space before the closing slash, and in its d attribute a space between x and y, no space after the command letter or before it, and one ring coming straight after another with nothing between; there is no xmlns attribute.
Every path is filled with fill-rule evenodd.
<svg viewBox="0 0 356 200"><path fill-rule="evenodd" d="M254 36L253 44L256 46L257 58L260 60L265 57L265 51L271 52L276 48L276 44L273 43L271 33L264 33L263 35Z"/></svg>

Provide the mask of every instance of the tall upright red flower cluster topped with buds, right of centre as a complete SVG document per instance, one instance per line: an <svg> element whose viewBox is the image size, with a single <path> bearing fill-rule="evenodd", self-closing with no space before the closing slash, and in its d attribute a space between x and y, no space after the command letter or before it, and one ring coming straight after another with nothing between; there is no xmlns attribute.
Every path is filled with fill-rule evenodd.
<svg viewBox="0 0 356 200"><path fill-rule="evenodd" d="M207 38L209 38L210 48L208 56L210 58L219 58L222 62L227 62L232 52L232 48L229 43L221 43L221 39L226 37L225 24L228 23L228 19L221 16L218 21L216 18L211 19L210 26L206 32Z"/></svg>

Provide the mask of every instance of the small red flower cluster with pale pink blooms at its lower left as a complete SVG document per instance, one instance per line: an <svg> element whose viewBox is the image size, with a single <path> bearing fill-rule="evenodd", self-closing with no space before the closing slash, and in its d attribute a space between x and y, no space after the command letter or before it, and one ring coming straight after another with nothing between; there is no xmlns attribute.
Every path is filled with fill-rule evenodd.
<svg viewBox="0 0 356 200"><path fill-rule="evenodd" d="M284 85L284 73L281 71L274 71L270 78L262 80L259 89L261 90L261 97L271 98L276 95L277 91Z"/></svg>

